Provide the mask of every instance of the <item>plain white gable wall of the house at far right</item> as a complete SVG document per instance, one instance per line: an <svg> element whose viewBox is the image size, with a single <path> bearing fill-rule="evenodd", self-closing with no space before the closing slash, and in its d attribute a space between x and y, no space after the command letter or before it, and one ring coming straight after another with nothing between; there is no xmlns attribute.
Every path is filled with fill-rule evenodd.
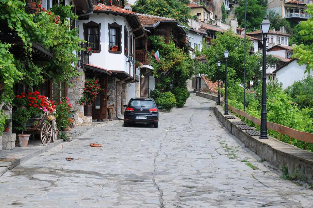
<svg viewBox="0 0 313 208"><path fill-rule="evenodd" d="M282 82L283 89L286 89L294 81L300 81L306 76L304 74L305 67L306 65L304 64L299 66L297 61L294 60L276 72L276 79L278 79L278 82Z"/></svg>

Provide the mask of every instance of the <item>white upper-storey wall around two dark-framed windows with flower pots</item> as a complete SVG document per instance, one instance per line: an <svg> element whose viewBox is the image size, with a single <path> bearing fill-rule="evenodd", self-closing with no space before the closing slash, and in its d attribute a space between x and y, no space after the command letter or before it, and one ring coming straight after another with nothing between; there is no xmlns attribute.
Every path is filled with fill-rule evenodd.
<svg viewBox="0 0 313 208"><path fill-rule="evenodd" d="M128 70L128 62L126 63L127 57L124 55L124 26L126 25L127 30L130 31L131 28L129 27L128 23L125 21L125 19L121 16L114 16L112 14L92 14L90 15L90 18L88 20L79 20L78 26L79 26L79 37L81 39L84 39L84 29L83 29L83 23L88 23L90 21L94 21L95 23L101 23L100 28L100 45L101 45L101 51L100 53L93 53L89 57L89 64L95 65L107 70L119 70L119 71L125 71L126 73L129 72ZM122 25L122 37L121 37L121 54L113 54L109 53L109 32L108 32L108 24L112 24L116 22L119 25ZM132 41L134 43L134 41ZM128 46L126 46L129 48ZM134 45L132 47L134 49ZM130 52L131 53L131 52ZM134 52L132 52L134 53ZM131 76L133 74L133 66L131 66ZM139 75L139 73L138 73Z"/></svg>

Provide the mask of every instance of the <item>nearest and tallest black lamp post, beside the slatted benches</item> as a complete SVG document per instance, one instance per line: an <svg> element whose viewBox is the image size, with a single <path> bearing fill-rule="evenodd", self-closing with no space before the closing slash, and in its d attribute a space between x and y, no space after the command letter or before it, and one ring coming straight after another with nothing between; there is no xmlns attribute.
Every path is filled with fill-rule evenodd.
<svg viewBox="0 0 313 208"><path fill-rule="evenodd" d="M260 24L261 33L263 35L263 76L262 76L262 102L261 102L261 134L260 139L268 139L267 137L267 112L266 112L266 39L269 33L271 23L264 17Z"/></svg>

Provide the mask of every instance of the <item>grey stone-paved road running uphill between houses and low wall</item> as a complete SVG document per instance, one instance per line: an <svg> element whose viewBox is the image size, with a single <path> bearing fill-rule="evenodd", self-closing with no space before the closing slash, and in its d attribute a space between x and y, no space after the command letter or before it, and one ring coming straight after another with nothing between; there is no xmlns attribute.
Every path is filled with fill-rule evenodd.
<svg viewBox="0 0 313 208"><path fill-rule="evenodd" d="M121 122L62 143L0 177L0 207L312 207L313 191L280 180L213 107L192 93L159 128Z"/></svg>

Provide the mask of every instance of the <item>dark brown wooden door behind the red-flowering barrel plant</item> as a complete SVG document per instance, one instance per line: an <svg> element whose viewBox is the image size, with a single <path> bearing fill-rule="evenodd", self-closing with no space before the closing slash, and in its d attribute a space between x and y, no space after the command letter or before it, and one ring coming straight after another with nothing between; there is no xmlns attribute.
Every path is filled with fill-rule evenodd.
<svg viewBox="0 0 313 208"><path fill-rule="evenodd" d="M101 84L100 93L98 93L97 98L95 99L95 105L92 107L92 118L93 119L106 119L107 118L107 81L108 78L99 79Z"/></svg>

